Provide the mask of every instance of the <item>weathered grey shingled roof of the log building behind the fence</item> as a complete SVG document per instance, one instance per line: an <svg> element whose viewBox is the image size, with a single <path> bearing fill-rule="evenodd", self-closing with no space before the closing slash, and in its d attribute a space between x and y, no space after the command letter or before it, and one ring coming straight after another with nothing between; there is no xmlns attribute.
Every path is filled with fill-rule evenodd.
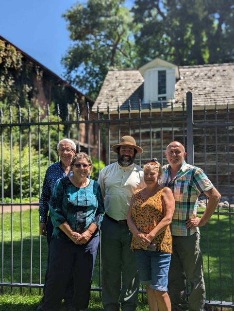
<svg viewBox="0 0 234 311"><path fill-rule="evenodd" d="M179 67L180 79L175 86L174 107L181 107L186 92L193 94L193 105L204 106L234 104L234 63ZM138 69L109 70L101 87L93 111L138 109L139 100L143 100L144 78ZM164 106L170 105L165 103ZM158 107L159 103L153 103ZM142 109L149 104L142 104Z"/></svg>

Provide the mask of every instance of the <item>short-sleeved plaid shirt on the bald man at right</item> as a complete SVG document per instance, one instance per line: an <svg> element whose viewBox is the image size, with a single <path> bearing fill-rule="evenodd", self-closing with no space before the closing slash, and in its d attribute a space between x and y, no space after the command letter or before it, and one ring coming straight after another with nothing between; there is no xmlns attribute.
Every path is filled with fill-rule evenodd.
<svg viewBox="0 0 234 311"><path fill-rule="evenodd" d="M171 223L171 234L189 236L199 232L199 228L186 229L185 221L197 216L198 197L214 186L206 174L198 167L185 161L176 176L171 180L170 165L163 167L160 184L169 187L175 198L175 212Z"/></svg>

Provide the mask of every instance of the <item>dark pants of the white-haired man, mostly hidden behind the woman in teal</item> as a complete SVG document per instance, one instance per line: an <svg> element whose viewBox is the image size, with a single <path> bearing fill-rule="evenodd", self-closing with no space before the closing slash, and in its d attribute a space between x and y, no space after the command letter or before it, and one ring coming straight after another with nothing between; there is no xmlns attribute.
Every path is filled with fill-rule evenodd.
<svg viewBox="0 0 234 311"><path fill-rule="evenodd" d="M48 217L47 225L46 225L46 238L47 238L47 243L48 243L48 258L47 258L47 268L46 268L46 276L45 276L45 284L43 288L43 293L45 295L46 292L46 285L47 285L47 279L48 279L48 273L49 273L49 268L50 268L50 242L52 239L52 233L53 233L53 224L50 219L50 215ZM70 274L69 281L67 283L67 288L64 293L63 298L65 300L72 300L73 297L73 275L72 273Z"/></svg>

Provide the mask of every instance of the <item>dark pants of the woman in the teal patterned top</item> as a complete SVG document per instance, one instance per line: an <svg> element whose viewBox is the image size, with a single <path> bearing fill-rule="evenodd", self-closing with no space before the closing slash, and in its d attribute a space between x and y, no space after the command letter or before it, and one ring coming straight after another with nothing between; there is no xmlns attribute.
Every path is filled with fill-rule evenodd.
<svg viewBox="0 0 234 311"><path fill-rule="evenodd" d="M50 243L50 267L46 282L44 311L58 311L73 274L74 295L72 306L76 310L88 307L90 288L100 237L76 245L72 241L52 239Z"/></svg>

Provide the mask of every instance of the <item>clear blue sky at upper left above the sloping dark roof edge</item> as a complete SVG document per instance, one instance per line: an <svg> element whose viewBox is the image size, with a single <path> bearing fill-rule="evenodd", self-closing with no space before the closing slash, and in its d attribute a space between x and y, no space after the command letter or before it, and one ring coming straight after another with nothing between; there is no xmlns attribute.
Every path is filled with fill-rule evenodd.
<svg viewBox="0 0 234 311"><path fill-rule="evenodd" d="M0 35L63 75L61 57L71 44L61 17L76 0L0 0Z"/></svg>

